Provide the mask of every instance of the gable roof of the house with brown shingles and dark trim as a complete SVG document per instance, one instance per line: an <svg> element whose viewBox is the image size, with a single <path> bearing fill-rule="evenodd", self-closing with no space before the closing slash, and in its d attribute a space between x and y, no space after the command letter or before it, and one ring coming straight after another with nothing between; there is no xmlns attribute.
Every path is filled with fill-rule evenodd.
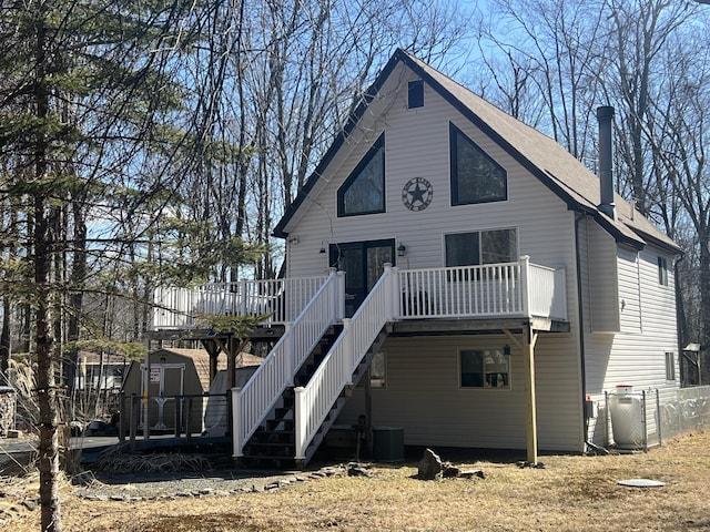
<svg viewBox="0 0 710 532"><path fill-rule="evenodd" d="M353 112L343 131L335 137L294 203L274 228L274 236L287 236L285 232L287 224L302 208L328 163L342 147L369 102L398 63L404 63L457 111L497 142L513 158L564 201L568 208L592 216L618 243L637 249L643 248L647 243L652 243L671 253L680 253L680 248L671 238L640 213L635 212L632 205L621 196L615 195L617 219L601 212L598 207L599 178L554 139L510 116L404 50L397 50L394 53L367 90L363 102Z"/></svg>

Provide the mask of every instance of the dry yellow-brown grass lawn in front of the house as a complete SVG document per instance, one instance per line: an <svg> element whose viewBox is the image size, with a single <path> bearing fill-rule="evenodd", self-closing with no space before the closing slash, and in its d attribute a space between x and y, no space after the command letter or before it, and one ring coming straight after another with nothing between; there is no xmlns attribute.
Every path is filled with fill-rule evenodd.
<svg viewBox="0 0 710 532"><path fill-rule="evenodd" d="M446 457L443 457L446 459ZM470 466L486 479L426 482L416 464L375 467L262 493L91 502L63 490L65 531L710 531L710 431L646 454L542 457L545 469ZM666 482L623 488L622 479ZM39 511L8 530L39 530Z"/></svg>

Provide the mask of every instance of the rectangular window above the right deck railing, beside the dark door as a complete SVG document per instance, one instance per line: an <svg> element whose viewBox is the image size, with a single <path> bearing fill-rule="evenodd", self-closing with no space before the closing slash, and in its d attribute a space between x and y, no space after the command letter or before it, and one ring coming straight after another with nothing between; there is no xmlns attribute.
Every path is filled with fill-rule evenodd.
<svg viewBox="0 0 710 532"><path fill-rule="evenodd" d="M453 233L444 236L446 266L514 263L517 260L516 229Z"/></svg>

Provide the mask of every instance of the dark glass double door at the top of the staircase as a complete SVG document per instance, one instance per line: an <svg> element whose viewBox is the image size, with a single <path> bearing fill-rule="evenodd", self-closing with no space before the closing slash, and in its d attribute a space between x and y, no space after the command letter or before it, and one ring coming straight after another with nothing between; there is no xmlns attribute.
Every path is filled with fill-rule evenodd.
<svg viewBox="0 0 710 532"><path fill-rule="evenodd" d="M395 241L331 244L331 266L345 272L345 316L352 317L382 276L386 263L395 265Z"/></svg>

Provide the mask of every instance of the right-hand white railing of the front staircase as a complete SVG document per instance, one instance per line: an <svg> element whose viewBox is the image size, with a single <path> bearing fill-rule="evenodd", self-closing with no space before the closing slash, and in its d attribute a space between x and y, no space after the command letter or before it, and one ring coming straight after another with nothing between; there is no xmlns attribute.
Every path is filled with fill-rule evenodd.
<svg viewBox="0 0 710 532"><path fill-rule="evenodd" d="M343 388L387 321L398 313L399 286L396 269L385 272L323 359L306 387L295 389L295 459L304 460L306 449ZM397 307L395 308L395 305Z"/></svg>

